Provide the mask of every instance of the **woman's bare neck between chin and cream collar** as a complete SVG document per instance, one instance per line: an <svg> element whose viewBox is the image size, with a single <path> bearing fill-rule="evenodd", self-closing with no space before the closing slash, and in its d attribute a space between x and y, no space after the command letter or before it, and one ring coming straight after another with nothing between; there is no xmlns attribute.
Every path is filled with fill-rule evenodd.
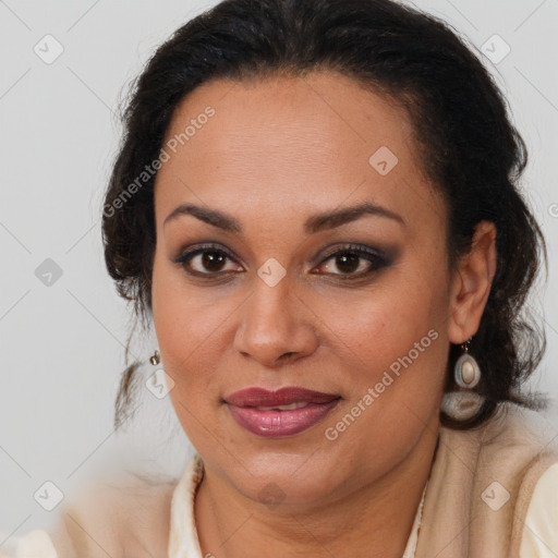
<svg viewBox="0 0 558 558"><path fill-rule="evenodd" d="M194 510L202 556L401 558L434 460L437 416L430 422L401 463L327 505L268 508L206 469Z"/></svg>

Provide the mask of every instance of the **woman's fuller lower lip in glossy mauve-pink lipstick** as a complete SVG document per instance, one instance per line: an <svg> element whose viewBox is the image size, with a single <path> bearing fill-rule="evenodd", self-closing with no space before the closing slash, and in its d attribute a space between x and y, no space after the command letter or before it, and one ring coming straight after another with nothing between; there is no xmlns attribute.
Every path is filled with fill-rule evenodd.
<svg viewBox="0 0 558 558"><path fill-rule="evenodd" d="M308 403L292 411L260 411L253 407L236 407L228 404L233 418L246 430L257 436L279 438L292 436L306 430L322 421L339 399L329 403Z"/></svg>

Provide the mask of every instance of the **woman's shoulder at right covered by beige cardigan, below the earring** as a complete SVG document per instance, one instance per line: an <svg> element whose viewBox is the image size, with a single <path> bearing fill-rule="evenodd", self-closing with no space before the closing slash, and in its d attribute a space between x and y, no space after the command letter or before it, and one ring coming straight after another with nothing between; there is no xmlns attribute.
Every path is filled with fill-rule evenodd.
<svg viewBox="0 0 558 558"><path fill-rule="evenodd" d="M486 556L486 548L494 548L495 558L518 557L530 502L538 506L535 487L546 492L548 478L556 486L556 425L543 414L510 404L477 428L440 427L438 441L418 550L432 556L435 548L450 556L468 547L470 556ZM544 506L556 506L556 489L549 494ZM521 558L534 556L546 555Z"/></svg>

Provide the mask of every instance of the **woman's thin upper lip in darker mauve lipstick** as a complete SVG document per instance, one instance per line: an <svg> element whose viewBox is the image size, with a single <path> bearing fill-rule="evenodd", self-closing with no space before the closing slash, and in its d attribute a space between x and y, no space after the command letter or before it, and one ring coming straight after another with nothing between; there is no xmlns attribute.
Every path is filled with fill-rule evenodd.
<svg viewBox="0 0 558 558"><path fill-rule="evenodd" d="M296 402L329 403L339 398L340 396L336 393L324 393L298 387L286 387L278 391L268 391L263 388L246 388L231 393L225 398L225 401L235 407L272 407L288 405Z"/></svg>

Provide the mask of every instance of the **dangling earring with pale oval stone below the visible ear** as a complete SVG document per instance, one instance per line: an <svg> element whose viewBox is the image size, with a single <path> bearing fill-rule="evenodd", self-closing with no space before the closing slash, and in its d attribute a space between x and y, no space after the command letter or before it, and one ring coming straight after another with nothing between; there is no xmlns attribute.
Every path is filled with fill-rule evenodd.
<svg viewBox="0 0 558 558"><path fill-rule="evenodd" d="M445 393L441 401L441 410L457 421L472 418L484 402L484 398L473 390L481 381L481 367L476 360L469 354L471 340L472 338L461 345L464 352L453 367L456 384L462 389Z"/></svg>

